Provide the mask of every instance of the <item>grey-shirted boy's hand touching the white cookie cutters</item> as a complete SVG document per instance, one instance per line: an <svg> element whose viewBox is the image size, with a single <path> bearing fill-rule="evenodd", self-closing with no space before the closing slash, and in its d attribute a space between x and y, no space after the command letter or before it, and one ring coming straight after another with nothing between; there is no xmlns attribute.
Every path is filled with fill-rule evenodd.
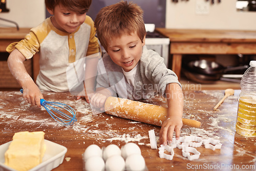
<svg viewBox="0 0 256 171"><path fill-rule="evenodd" d="M167 118L161 127L159 133L160 144L167 145L173 140L173 133L176 132L176 139L178 140L180 137L180 130L182 127L182 119L180 117L172 116Z"/></svg>

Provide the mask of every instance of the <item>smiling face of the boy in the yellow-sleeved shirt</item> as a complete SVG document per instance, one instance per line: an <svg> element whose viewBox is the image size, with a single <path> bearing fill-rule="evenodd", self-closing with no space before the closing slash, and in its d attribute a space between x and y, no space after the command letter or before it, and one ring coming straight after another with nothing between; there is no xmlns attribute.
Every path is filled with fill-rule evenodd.
<svg viewBox="0 0 256 171"><path fill-rule="evenodd" d="M67 33L75 32L86 20L86 13L73 12L61 5L56 5L54 10L48 11L54 15L51 18L53 26Z"/></svg>

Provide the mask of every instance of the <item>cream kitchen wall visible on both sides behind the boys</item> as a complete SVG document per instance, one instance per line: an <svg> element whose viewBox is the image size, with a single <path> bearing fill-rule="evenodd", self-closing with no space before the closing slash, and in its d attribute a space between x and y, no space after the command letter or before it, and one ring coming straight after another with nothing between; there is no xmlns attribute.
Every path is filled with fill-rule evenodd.
<svg viewBox="0 0 256 171"><path fill-rule="evenodd" d="M237 0L222 0L220 4L214 0L214 5L210 1L208 13L197 14L196 5L206 0L166 0L166 28L256 30L256 12L237 11ZM44 0L7 0L7 8L10 12L0 13L0 17L13 20L19 27L35 27L45 19Z"/></svg>

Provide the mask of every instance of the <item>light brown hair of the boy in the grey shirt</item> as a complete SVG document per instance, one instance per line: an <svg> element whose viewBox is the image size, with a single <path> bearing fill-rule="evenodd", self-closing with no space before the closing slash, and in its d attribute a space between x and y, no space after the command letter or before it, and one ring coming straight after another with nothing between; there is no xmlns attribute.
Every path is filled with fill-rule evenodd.
<svg viewBox="0 0 256 171"><path fill-rule="evenodd" d="M143 42L146 35L143 10L134 3L120 1L117 4L102 8L94 22L97 37L106 51L112 36L135 33Z"/></svg>

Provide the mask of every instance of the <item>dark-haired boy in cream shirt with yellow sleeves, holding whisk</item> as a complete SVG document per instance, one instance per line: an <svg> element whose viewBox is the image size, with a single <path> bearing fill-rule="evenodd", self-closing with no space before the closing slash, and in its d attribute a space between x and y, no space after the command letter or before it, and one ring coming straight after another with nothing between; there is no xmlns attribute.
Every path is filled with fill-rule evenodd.
<svg viewBox="0 0 256 171"><path fill-rule="evenodd" d="M41 90L69 91L66 74L68 66L85 56L100 52L94 22L86 15L91 3L91 0L45 0L52 16L32 28L23 40L7 47L10 71L23 88L23 96L29 103L40 108L40 99L44 98ZM32 58L36 52L40 54L40 71L35 83L23 61ZM86 70L91 71L92 75L97 72L99 57L94 55L86 59L89 63ZM94 82L89 83L89 87L90 84L90 89L93 89Z"/></svg>

